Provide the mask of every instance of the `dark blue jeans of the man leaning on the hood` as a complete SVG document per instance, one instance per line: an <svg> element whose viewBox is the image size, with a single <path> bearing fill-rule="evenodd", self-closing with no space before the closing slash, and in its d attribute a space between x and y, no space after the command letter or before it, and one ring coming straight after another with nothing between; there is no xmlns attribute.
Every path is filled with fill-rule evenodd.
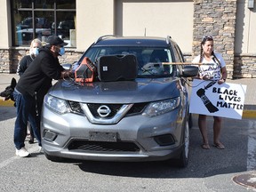
<svg viewBox="0 0 256 192"><path fill-rule="evenodd" d="M36 124L36 100L30 95L22 95L14 90L13 97L16 102L16 121L14 125L14 144L17 149L25 146L28 121L33 128L38 145L41 146L41 136Z"/></svg>

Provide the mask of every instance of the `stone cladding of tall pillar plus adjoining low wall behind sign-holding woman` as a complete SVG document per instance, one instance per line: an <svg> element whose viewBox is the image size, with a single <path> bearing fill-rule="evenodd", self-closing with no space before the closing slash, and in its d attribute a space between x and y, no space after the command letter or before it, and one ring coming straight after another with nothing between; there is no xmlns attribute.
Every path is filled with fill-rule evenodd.
<svg viewBox="0 0 256 192"><path fill-rule="evenodd" d="M202 36L214 38L216 52L226 61L228 78L255 78L256 53L235 54L236 0L195 0L194 35L191 61L200 53Z"/></svg>

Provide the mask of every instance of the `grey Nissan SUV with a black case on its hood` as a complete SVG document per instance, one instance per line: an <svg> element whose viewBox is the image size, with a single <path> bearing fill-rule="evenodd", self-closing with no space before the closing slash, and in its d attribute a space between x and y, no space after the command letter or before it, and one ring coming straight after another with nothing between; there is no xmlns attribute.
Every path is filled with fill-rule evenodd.
<svg viewBox="0 0 256 192"><path fill-rule="evenodd" d="M180 65L182 52L170 36L101 36L75 66L89 58L99 68L100 58L120 55L135 56L134 79L60 80L45 95L44 155L52 161L176 159L180 167L187 166L186 77L196 76L197 68Z"/></svg>

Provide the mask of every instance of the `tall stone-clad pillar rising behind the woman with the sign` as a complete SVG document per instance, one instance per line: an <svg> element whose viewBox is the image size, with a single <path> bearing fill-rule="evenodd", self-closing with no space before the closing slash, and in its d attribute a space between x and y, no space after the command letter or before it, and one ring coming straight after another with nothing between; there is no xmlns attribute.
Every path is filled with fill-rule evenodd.
<svg viewBox="0 0 256 192"><path fill-rule="evenodd" d="M226 61L228 78L234 73L236 0L194 1L192 57L200 53L202 36L213 36L214 49Z"/></svg>

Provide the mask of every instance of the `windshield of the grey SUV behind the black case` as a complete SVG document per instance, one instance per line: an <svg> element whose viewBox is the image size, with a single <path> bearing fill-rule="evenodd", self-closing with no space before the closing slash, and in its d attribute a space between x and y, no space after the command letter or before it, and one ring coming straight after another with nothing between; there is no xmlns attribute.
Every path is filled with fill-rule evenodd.
<svg viewBox="0 0 256 192"><path fill-rule="evenodd" d="M168 65L169 62L172 62L172 54L170 49L163 47L91 47L85 52L83 58L88 57L95 63L100 56L125 54L133 54L136 56L138 63L138 77L172 76L172 65ZM81 60L83 60L83 58Z"/></svg>

